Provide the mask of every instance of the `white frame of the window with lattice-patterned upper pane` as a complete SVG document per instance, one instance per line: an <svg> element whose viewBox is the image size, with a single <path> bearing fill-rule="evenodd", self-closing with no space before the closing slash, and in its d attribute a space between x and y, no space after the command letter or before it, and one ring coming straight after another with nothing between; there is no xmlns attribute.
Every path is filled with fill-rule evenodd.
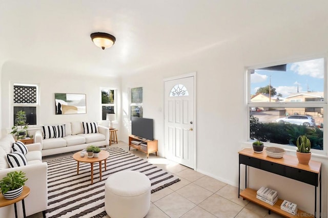
<svg viewBox="0 0 328 218"><path fill-rule="evenodd" d="M36 87L36 103L14 103L14 86L19 85L19 86L35 86ZM11 107L10 107L10 124L11 126L14 126L14 120L12 119L14 117L14 107L19 106L19 107L35 107L36 111L36 124L35 125L28 125L29 128L36 127L39 125L39 84L38 83L22 83L22 82L11 82L10 84L11 88Z"/></svg>

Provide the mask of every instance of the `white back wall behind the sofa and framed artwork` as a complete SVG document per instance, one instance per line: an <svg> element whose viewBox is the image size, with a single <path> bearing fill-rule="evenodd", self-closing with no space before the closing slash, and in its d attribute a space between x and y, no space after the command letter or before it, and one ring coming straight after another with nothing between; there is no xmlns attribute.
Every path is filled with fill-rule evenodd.
<svg viewBox="0 0 328 218"><path fill-rule="evenodd" d="M38 124L58 124L70 121L98 121L101 122L100 87L117 89L117 111L120 111L120 78L76 76L63 69L40 69L31 66L6 62L2 68L1 99L2 133L7 134L13 125L10 109L10 84L37 83L39 85L39 116ZM86 94L87 113L72 115L55 115L54 93ZM118 117L120 119L120 117ZM106 121L104 122L104 124ZM108 124L107 124L108 125ZM118 124L115 124L117 126ZM118 127L118 126L117 126Z"/></svg>

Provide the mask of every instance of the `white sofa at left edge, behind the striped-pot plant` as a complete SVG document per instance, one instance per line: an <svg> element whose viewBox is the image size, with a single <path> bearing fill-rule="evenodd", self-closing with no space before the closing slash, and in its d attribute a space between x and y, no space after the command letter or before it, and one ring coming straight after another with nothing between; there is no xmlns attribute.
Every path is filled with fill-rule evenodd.
<svg viewBox="0 0 328 218"><path fill-rule="evenodd" d="M30 194L25 202L26 215L32 215L47 209L47 163L42 162L40 143L29 144L26 166L10 168L7 162L7 154L11 152L11 146L15 142L12 135L7 135L0 139L0 179L7 176L8 172L23 171L26 173L25 185L30 188ZM23 217L22 202L17 203L18 217ZM15 217L14 205L0 208L0 217Z"/></svg>

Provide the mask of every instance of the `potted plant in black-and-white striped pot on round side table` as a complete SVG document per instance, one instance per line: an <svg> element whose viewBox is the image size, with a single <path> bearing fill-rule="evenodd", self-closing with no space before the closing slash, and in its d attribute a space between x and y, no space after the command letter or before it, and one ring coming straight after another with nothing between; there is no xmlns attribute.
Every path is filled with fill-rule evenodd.
<svg viewBox="0 0 328 218"><path fill-rule="evenodd" d="M15 199L23 192L23 186L28 179L25 179L25 172L8 172L7 176L0 180L0 189L5 199Z"/></svg>

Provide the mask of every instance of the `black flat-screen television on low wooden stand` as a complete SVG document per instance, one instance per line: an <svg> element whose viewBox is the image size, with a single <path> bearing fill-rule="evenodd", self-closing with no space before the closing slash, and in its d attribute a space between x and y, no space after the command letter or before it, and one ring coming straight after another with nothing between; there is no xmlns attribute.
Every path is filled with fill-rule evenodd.
<svg viewBox="0 0 328 218"><path fill-rule="evenodd" d="M153 119L131 117L131 133L142 139L154 139Z"/></svg>

